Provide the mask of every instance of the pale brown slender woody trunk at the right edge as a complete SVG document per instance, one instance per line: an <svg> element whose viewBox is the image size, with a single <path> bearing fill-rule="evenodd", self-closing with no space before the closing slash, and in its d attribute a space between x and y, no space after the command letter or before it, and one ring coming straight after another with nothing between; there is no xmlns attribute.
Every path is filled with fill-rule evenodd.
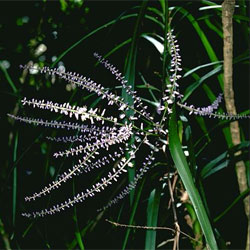
<svg viewBox="0 0 250 250"><path fill-rule="evenodd" d="M233 13L234 13L235 0L224 0L222 4L222 25L224 35L224 95L227 112L230 114L236 114L234 91L233 91ZM238 121L230 123L230 131L232 135L232 142L234 145L240 143L240 129ZM239 154L240 152L238 152ZM247 186L246 167L243 161L236 163L236 174L238 179L238 185L240 192L244 192ZM248 195L244 199L245 213L249 221L249 204L250 196ZM250 249L250 224L248 224L248 234L246 249Z"/></svg>

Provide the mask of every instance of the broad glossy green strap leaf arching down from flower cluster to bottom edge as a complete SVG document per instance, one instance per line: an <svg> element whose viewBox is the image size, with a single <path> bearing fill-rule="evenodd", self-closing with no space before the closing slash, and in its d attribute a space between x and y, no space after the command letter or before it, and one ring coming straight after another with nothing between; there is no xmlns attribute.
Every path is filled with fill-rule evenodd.
<svg viewBox="0 0 250 250"><path fill-rule="evenodd" d="M210 249L218 249L217 243L214 237L214 233L208 219L206 210L202 203L200 194L194 185L193 177L188 167L184 152L181 147L181 143L177 131L176 111L173 108L173 113L169 121L169 148L170 153L177 168L177 171L181 177L181 180L187 190L190 200L193 204L195 213L200 222L202 231Z"/></svg>

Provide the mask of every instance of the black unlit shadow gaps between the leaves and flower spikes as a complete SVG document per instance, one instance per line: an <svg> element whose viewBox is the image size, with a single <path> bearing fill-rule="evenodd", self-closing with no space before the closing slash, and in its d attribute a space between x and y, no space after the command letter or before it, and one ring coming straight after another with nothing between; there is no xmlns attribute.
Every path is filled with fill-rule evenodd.
<svg viewBox="0 0 250 250"><path fill-rule="evenodd" d="M59 1L1 1L0 2L0 60L8 61L10 67L7 69L9 76L14 82L17 93L14 93L6 79L3 71L0 72L0 123L1 123L1 157L0 157L0 218L4 224L4 229L11 239L12 248L34 249L34 248L67 248L75 238L75 224L72 220L73 210L68 210L50 216L44 219L30 221L21 216L23 211L40 210L47 204L54 204L64 200L65 197L72 196L72 183L65 185L62 189L52 194L47 199L42 199L33 203L25 203L24 196L39 190L44 183L49 183L54 175L51 174L53 169L67 168L72 165L72 159L63 161L52 158L53 152L56 152L58 145L53 145L45 140L46 135L51 135L51 130L44 128L34 128L33 126L19 124L7 118L8 113L18 113L24 116L36 117L53 117L51 114L34 111L31 108L21 107L20 98L44 98L55 102L66 102L74 93L73 100L81 102L84 95L81 90L77 92L67 91L62 81L56 81L51 84L43 76L34 76L27 78L24 83L20 82L22 71L19 69L20 64L26 64L30 60L44 60L47 65L52 63L53 56L60 55L76 41L81 39L97 27L104 23L117 19L117 23L106 29L97 32L95 35L85 40L73 50L70 51L62 61L69 71L76 71L83 75L93 78L95 81L102 83L104 86L115 86L114 79L105 69L95 67L96 60L92 54L97 51L105 54L117 44L132 35L135 18L127 21L119 21L119 16L123 13L137 13L136 6L141 2L130 1L84 1L81 6L70 2L66 9ZM150 2L152 6L159 6L157 1ZM209 41L211 42L217 57L222 60L223 40L220 39L213 31L207 28L202 21L202 11L198 8L202 6L201 2L183 2L170 1L171 6L185 6L192 15L200 21ZM247 2L249 5L249 2ZM248 6L249 7L249 6ZM237 12L237 10L236 10ZM209 12L213 21L220 23L220 17ZM27 23L26 23L26 21ZM178 14L173 19L173 26L181 48L183 67L190 69L197 65L209 62L209 58L200 42L200 39L192 28L190 23ZM142 26L143 31L161 32L157 26L145 21ZM55 36L53 32L57 32ZM241 26L235 23L234 29L234 54L237 56L243 53L249 44L242 35ZM162 34L161 34L162 35ZM45 58L36 58L34 56L35 48L43 43L47 46L43 54ZM137 70L153 85L160 87L157 82L157 72L161 69L159 54L152 49L151 45L140 40L138 52ZM110 61L117 68L123 70L125 56L128 51L128 45L114 53ZM200 74L205 74L206 69L201 70ZM139 78L137 79L139 83ZM189 85L190 79L183 79L181 90L184 92ZM216 77L209 78L207 84L219 93L221 90ZM239 112L249 107L249 64L237 64L234 68L234 88L237 110ZM87 104L94 101L94 97L86 100ZM196 91L188 100L197 106L206 106L209 104L206 95L202 91ZM199 138L201 131L197 128L194 117L190 116L189 122L192 127L194 140ZM208 127L215 123L214 120L206 120ZM248 137L249 123L240 121L246 139ZM18 149L17 161L13 162L14 138L18 131ZM219 153L225 151L225 141L221 131L214 133L212 139L214 143L207 148L204 155L198 160L198 165L204 165ZM13 170L17 167L17 211L16 222L12 222L12 189L13 189ZM159 169L159 172L161 170ZM95 174L95 173L94 173ZM153 173L152 173L153 174ZM144 190L143 199L140 204L140 213L137 222L140 225L145 224L146 200L148 194L157 181L150 182L150 174L147 177L147 185ZM75 186L80 188L91 183L88 177L78 177ZM238 195L238 186L235 176L234 166L224 169L205 182L205 191L211 217L215 217L223 211L225 206L229 205ZM104 192L99 197L89 199L88 202L77 206L78 225L84 228L89 221L95 221L96 225L84 237L86 248L119 248L124 239L125 229L114 229L105 222L104 218L117 218L121 204L105 212L104 216L96 217L96 209L106 204L108 195L112 189ZM54 201L55 200L55 201ZM128 200L126 200L128 203ZM121 215L121 221L126 222L129 219L129 206L125 203L125 209ZM124 211L128 211L126 214ZM164 207L161 208L164 213ZM166 219L166 218L165 218ZM181 220L181 218L180 218ZM238 203L234 208L214 225L221 233L226 242L230 242L229 248L244 248L246 241L246 218L244 216L243 206ZM183 226L183 231L190 229ZM144 231L138 231L131 237L131 248L143 248ZM168 232L159 233L159 239L171 237ZM190 248L188 240L183 240L182 248ZM0 247L3 243L0 240Z"/></svg>

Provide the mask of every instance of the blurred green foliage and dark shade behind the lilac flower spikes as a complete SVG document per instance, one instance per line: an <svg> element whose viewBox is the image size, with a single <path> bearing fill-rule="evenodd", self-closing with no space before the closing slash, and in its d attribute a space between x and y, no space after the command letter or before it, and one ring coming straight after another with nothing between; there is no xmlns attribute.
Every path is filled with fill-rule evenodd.
<svg viewBox="0 0 250 250"><path fill-rule="evenodd" d="M95 51L108 54L109 60L117 68L124 69L141 4L141 1L83 0L0 2L0 248L120 249L123 246L142 249L147 244L147 237L152 237L146 234L146 230L115 228L105 219L147 225L148 200L152 191L159 190L159 187L161 198L158 205L155 203L155 210L152 209L156 213L156 225L173 228L173 211L168 206L169 193L162 180L167 169L160 162L136 191L139 193L142 190L137 196L139 204L135 216L132 216L133 206L130 207L129 198L105 212L96 211L107 203L119 185L72 210L54 216L37 220L21 216L26 209L40 210L55 201L62 201L72 196L76 188L78 190L87 186L93 180L79 177L56 195L26 204L24 196L39 190L53 180L61 169L71 167L73 163L72 159L62 162L53 159L52 154L58 146L46 141L45 137L56 132L18 124L8 119L7 114L27 116L28 113L28 116L51 118L42 112L24 110L20 106L24 96L88 105L96 105L96 100L94 96L63 81L37 74L25 75L19 65L33 62L40 66L61 66L114 88L114 79L105 69L96 66L92 55ZM221 8L216 7L217 4L220 3L147 3L147 18L140 23L143 35L137 41L135 87L138 90L145 87L144 79L151 86L162 88L159 50L164 43L160 37L164 37L162 20L166 18L166 8L169 9L169 22L180 44L183 74L186 73L180 81L184 98L196 106L206 106L222 92L223 39ZM233 19L235 101L239 113L249 113L246 111L249 109L249 1L237 1L236 5ZM204 36L207 40L204 40ZM153 39L150 40L150 37ZM161 46L157 46L157 41ZM60 58L62 53L65 55ZM191 71L196 67L195 71ZM155 95L160 96L157 91ZM180 114L188 120L185 122L183 118L179 126L183 128L184 144L196 156L195 163L192 163L194 159L191 157L189 163L197 166L193 172L194 179L196 183L202 183L197 185L207 204L207 213L218 245L220 248L243 249L247 237L247 218L242 199L249 194L249 189L240 196L234 164L241 159L249 169L249 122L240 121L244 143L238 146L241 154L236 159L230 136L225 132L229 122L187 116L185 112ZM125 182L126 179L121 185ZM175 195L176 204L180 205L177 211L181 230L199 240L199 234L202 235L199 223L192 206L181 200L183 186L179 178L177 182ZM226 213L222 214L223 211ZM168 242L168 239L173 238L172 232L157 231L154 237L155 247L172 249L173 243ZM199 249L201 245L182 235L180 249L184 248Z"/></svg>

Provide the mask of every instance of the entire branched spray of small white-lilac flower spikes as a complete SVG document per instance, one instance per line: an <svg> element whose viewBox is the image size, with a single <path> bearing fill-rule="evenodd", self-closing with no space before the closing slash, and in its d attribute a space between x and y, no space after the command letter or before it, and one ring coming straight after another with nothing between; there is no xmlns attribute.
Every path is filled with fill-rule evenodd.
<svg viewBox="0 0 250 250"><path fill-rule="evenodd" d="M127 167L133 167L132 161L136 157L136 153L143 147L148 147L150 153L145 156L145 161L139 165L139 170L124 190L117 195L113 200L109 201L103 209L110 207L123 199L129 192L135 188L139 180L143 177L144 173L149 170L149 167L154 161L154 154L159 151L161 143L166 141L168 133L166 119L168 115L172 113L173 104L178 104L181 108L188 110L190 113L196 115L208 115L210 117L227 118L227 119L239 119L243 116L239 115L227 115L214 113L218 108L219 103L222 101L222 94L208 107L195 108L193 105L188 106L186 103L181 103L182 95L179 93L178 81L181 78L181 56L179 54L179 47L177 40L171 30L167 34L168 49L170 55L170 68L169 77L166 84L166 89L163 93L159 107L162 116L159 119L154 118L154 114L151 114L143 99L140 98L136 91L132 89L124 76L106 59L100 56L98 53L94 53L94 56L98 59L99 63L104 65L116 79L121 83L121 87L125 90L126 95L130 96L133 100L133 105L129 105L125 101L126 98L122 98L118 94L112 93L109 89L101 86L90 78L86 78L77 73L65 72L60 68L35 68L40 73L57 76L69 83L74 83L76 86L87 90L91 93L95 93L97 96L107 101L107 105L114 105L117 107L117 116L107 116L106 110L88 109L86 106L75 106L69 103L54 103L52 101L36 100L23 98L22 105L28 105L33 108L39 108L51 112L55 112L66 116L70 119L75 119L76 122L61 121L61 120L43 120L41 118L21 117L8 114L10 118L17 121L21 121L28 124L40 125L55 129L67 129L70 131L76 131L76 135L50 137L47 139L56 143L71 143L73 144L66 150L61 150L54 153L54 157L80 157L78 163L73 165L65 172L59 174L56 180L49 183L39 192L36 192L30 196L25 197L25 201L32 201L39 197L49 194L51 191L58 189L63 183L67 182L76 175L88 173L91 170L98 169L100 167L109 168L110 165L115 165L111 171L108 172L106 177L101 177L97 183L93 184L91 188L87 188L84 192L78 193L73 198L68 199L60 204L54 205L49 209L44 209L37 212L23 213L26 217L37 217L51 215L56 212L60 212L66 208L72 207L76 203L83 202L88 197L93 197L96 193L101 192L107 186L110 186L113 182L116 182L122 173L127 171ZM32 65L21 66L23 70L32 71L34 68ZM131 112L127 112L131 111ZM246 116L249 117L249 116ZM126 119L125 119L126 118ZM140 119L142 118L142 119ZM135 140L132 145L128 144L130 138ZM77 145L75 145L77 144ZM126 155L126 157L125 157ZM116 163L116 164L114 164Z"/></svg>

